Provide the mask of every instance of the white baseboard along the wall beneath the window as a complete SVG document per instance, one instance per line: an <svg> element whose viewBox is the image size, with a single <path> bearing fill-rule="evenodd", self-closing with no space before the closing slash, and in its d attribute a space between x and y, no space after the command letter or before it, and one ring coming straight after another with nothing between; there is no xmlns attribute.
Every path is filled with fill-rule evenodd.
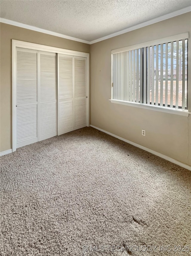
<svg viewBox="0 0 191 256"><path fill-rule="evenodd" d="M99 130L99 131L101 131L101 132L105 132L105 133L107 133L107 134L109 134L109 135L111 135L111 136L113 136L113 137L115 137L115 138L118 138L118 139L121 140L121 141L125 141L125 142L127 142L127 143L129 143L129 144L131 144L131 145L133 145L133 146L135 146L135 147L141 148L141 149L143 149L143 150L145 150L145 151L147 151L147 152L149 152L149 153L151 153L151 154L153 154L153 155L155 155L155 156L159 156L159 157L161 157L161 158L163 158L163 159L165 159L165 160L167 160L167 161L169 161L169 162L172 162L173 164L177 164L177 165L179 165L179 166L181 166L181 167L183 167L183 168L188 169L188 170L191 171L191 166L188 165L188 164L184 164L184 163L182 163L182 162L180 162L180 161L178 161L178 160L175 160L175 159L173 159L173 158L171 158L171 157L169 157L169 156L165 156L165 155L163 155L163 154L161 154L161 153L158 153L158 152L156 152L156 151L154 151L154 150L152 150L152 149L149 149L149 148L147 148L147 147L141 146L141 145L139 145L139 144L137 144L137 143L135 143L135 142L128 141L128 140L126 140L126 139L124 139L124 138L122 138L122 137L119 137L118 135L115 135L115 134L113 134L113 133L111 133L111 132L107 132L107 131L105 131L105 130L103 130L103 129L100 129L100 128L96 127L96 126L93 126L93 125L91 125L91 124L90 124L90 126L93 127L93 128L95 128L95 129L97 129L97 130Z"/></svg>

